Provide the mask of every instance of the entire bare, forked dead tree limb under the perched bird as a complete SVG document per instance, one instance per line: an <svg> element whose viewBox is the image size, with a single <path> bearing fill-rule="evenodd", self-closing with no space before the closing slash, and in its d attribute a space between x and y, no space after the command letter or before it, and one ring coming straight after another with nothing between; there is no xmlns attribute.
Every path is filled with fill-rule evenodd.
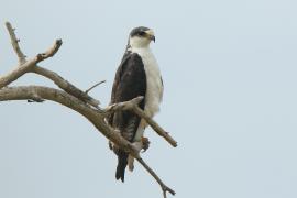
<svg viewBox="0 0 297 198"><path fill-rule="evenodd" d="M52 100L66 106L74 111L77 111L86 119L88 119L108 140L135 157L160 184L164 198L166 198L167 191L172 195L175 195L175 191L167 187L161 180L157 174L155 174L155 172L141 158L140 153L134 147L134 145L122 138L117 130L111 128L106 122L106 118L110 114L110 112L131 110L139 117L143 118L157 132L157 134L163 136L173 146L177 146L176 141L154 120L147 117L147 114L142 109L138 107L138 103L143 99L142 97L134 98L127 102L116 103L107 107L106 109L101 109L99 107L99 100L88 95L90 89L100 85L101 82L96 84L87 91L82 91L69 81L65 80L58 74L37 65L44 59L53 57L58 52L59 47L62 46L62 40L56 40L54 45L50 47L45 53L40 53L35 57L26 61L25 55L22 53L19 46L19 40L16 38L14 29L9 22L6 23L6 26L11 38L12 47L19 58L19 65L12 72L0 76L0 101L33 100L41 102L44 100ZM54 81L59 89L44 86L9 86L12 81L16 80L19 77L25 75L26 73L34 73L48 78L50 80Z"/></svg>

